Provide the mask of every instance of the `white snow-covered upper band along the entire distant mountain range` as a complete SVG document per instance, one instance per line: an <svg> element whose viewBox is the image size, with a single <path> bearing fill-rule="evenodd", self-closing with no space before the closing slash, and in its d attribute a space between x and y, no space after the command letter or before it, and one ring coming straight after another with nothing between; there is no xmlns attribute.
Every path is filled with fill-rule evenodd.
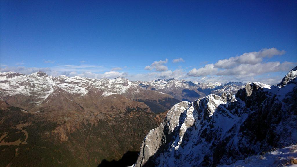
<svg viewBox="0 0 297 167"><path fill-rule="evenodd" d="M48 76L43 72L23 75L20 73L6 72L0 73L1 97L25 95L32 97L31 103L40 104L51 94L57 93L57 90L63 90L75 96L85 96L90 91L101 92L102 97L111 94L141 94L147 89L157 90L165 94L170 94L178 100L195 100L198 97L205 96L211 90L214 94L223 92L236 93L241 87L236 84L230 84L221 88L220 83L193 83L185 80L176 80L174 78L164 80L154 80L150 82L129 81L125 78L114 79L92 79L79 76L68 77L61 75L58 77ZM200 92L198 91L200 90ZM203 92L203 90L207 90Z"/></svg>

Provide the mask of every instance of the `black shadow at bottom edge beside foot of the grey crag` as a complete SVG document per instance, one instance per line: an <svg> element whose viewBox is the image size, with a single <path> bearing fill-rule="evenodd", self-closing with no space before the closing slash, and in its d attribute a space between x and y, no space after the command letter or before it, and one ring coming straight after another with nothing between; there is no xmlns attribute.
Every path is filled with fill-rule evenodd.
<svg viewBox="0 0 297 167"><path fill-rule="evenodd" d="M127 167L133 165L138 157L137 151L127 151L123 157L116 161L108 161L108 160L102 160L101 163L98 165L98 167L111 167L111 166L118 166L118 167Z"/></svg>

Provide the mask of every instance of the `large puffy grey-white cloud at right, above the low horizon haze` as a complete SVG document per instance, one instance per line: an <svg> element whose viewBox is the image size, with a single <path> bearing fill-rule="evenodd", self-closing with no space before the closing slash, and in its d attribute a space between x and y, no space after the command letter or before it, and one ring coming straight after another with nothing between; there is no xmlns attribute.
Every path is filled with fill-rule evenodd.
<svg viewBox="0 0 297 167"><path fill-rule="evenodd" d="M229 59L219 60L215 64L206 64L199 69L192 69L189 76L207 76L207 75L246 75L255 76L263 73L288 71L296 63L293 62L266 62L264 57L282 55L285 51L279 51L276 48L261 49L258 52L244 53L240 56L230 57Z"/></svg>

